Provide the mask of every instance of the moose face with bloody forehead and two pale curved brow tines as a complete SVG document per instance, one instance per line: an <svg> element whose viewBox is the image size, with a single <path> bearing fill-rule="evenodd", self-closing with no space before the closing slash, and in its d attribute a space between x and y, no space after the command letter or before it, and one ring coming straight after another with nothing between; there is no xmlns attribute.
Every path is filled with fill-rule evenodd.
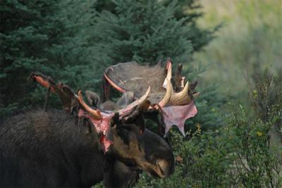
<svg viewBox="0 0 282 188"><path fill-rule="evenodd" d="M128 120L128 116L133 114L137 106L146 103L149 91L150 88L145 95L130 104L126 104L128 101L125 101L126 106L121 100L118 101L117 108L125 107L115 112L91 108L83 101L81 92L78 92L78 101L83 108L80 109L79 116L87 117L98 134L102 134L100 142L108 156L115 156L126 165L145 170L154 177L166 177L173 172L174 166L170 147L164 139L160 139L156 134L145 130L144 125L140 125L141 114L131 117L133 121ZM121 99L126 95L123 94Z"/></svg>

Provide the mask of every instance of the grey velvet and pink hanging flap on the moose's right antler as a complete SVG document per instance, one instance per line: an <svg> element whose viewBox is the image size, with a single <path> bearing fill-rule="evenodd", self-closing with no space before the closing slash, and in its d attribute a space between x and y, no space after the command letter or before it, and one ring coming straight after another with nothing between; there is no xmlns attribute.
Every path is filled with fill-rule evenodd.
<svg viewBox="0 0 282 188"><path fill-rule="evenodd" d="M120 92L131 91L139 98L146 92L147 87L151 87L148 100L151 104L159 104L166 93L166 71L161 65L149 67L140 65L135 61L128 63L118 63L107 68L104 77L112 87ZM185 77L182 77L182 84ZM176 125L180 132L185 135L185 120L197 114L195 101L182 106L161 107L164 113L165 134L172 125Z"/></svg>

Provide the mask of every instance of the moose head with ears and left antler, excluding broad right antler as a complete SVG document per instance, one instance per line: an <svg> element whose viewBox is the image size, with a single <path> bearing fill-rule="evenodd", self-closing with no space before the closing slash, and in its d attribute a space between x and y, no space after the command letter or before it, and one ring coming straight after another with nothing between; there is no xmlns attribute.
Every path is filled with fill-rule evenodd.
<svg viewBox="0 0 282 188"><path fill-rule="evenodd" d="M49 82L50 77L42 74L32 74L31 78L59 94L64 99L61 101L66 112L71 113L70 109L77 111L78 121L86 120L94 127L107 158L116 158L130 168L145 170L153 177L166 177L173 172L171 147L157 134L145 129L142 118L142 111L149 108L150 87L138 99L132 92L124 92L116 104L112 102L108 106L99 104L99 95L87 91L85 94L92 105L89 106L81 91L74 94L67 85L56 84L53 79Z"/></svg>

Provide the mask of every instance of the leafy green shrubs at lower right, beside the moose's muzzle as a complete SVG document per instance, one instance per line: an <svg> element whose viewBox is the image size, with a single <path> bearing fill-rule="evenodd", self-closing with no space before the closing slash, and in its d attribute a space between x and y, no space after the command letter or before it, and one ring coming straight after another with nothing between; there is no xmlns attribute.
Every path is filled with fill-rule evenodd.
<svg viewBox="0 0 282 188"><path fill-rule="evenodd" d="M253 77L257 92L254 96L250 87L252 118L243 106L232 105L224 115L224 125L216 130L203 131L198 124L190 127L187 137L171 131L175 173L164 180L143 174L136 187L281 187L281 141L274 140L278 132L271 131L281 125L279 77L269 70L259 80Z"/></svg>

